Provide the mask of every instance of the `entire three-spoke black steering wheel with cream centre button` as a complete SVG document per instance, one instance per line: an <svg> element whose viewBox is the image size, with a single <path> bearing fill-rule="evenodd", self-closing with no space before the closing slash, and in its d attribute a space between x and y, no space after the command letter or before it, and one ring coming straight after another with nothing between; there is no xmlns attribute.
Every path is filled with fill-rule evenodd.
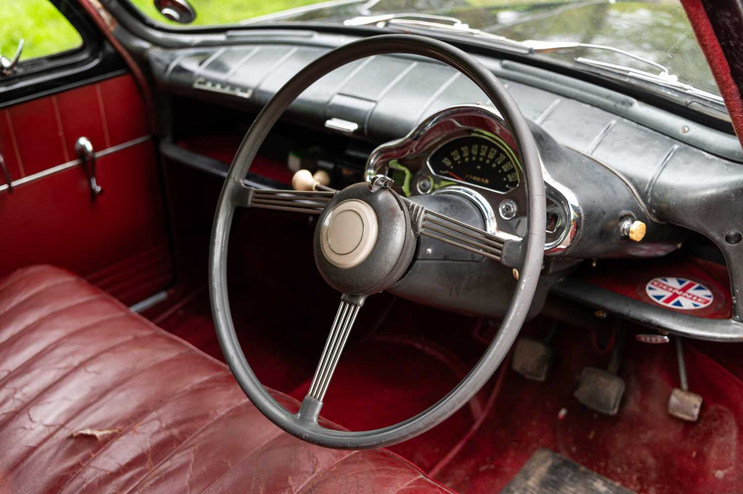
<svg viewBox="0 0 743 494"><path fill-rule="evenodd" d="M528 232L524 238L501 238L430 211L389 188L377 175L340 192L259 189L244 184L250 163L268 131L309 85L348 62L367 56L408 53L438 60L469 77L499 109L522 158L527 195ZM248 365L238 341L227 297L227 244L237 207L262 207L319 214L314 256L326 282L343 293L325 348L299 412L281 406ZM326 53L296 74L270 100L247 131L221 191L212 229L210 296L224 358L250 401L277 426L304 441L336 449L369 449L406 441L450 417L484 386L516 339L536 290L545 245L545 185L536 143L518 106L490 71L464 51L423 36L373 36ZM442 233L444 235L442 235ZM364 300L391 287L413 261L419 235L447 241L493 261L518 259L516 289L500 330L474 368L446 396L403 422L363 432L323 427L318 423L322 399L343 346Z"/></svg>

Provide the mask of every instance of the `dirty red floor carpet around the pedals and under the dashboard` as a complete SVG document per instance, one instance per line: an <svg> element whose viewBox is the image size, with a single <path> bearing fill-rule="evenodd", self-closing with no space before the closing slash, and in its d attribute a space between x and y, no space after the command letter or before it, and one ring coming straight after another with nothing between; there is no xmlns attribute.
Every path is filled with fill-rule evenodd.
<svg viewBox="0 0 743 494"><path fill-rule="evenodd" d="M421 412L446 394L484 350L476 319L398 301L377 325L374 317L386 313L392 299L372 300L377 306L365 306L360 314L322 411L352 430L386 426ZM206 293L186 302L155 320L221 358ZM298 328L299 308L268 311L262 320L251 321L256 311L233 302L247 360L266 386L299 398L305 394L332 305L325 315L318 311L316 319L304 314ZM574 399L581 369L603 367L608 357L594 350L587 332L562 328L553 340L554 372L545 383L525 380L507 368L500 386L496 373L470 406L391 449L462 493L498 492L540 447L640 493L743 493L739 377L687 345L690 387L702 394L704 406L698 423L685 423L666 412L671 389L678 386L673 346L643 345L629 336L620 371L627 390L615 417L591 412ZM709 352L716 347L700 348ZM736 371L743 366L735 367L733 354L726 348L727 362ZM560 420L562 408L567 415Z"/></svg>

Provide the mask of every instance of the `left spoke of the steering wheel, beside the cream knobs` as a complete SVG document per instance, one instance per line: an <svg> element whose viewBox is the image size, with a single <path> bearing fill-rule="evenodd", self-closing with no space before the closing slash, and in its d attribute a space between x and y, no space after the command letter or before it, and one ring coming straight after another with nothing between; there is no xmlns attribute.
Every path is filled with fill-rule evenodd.
<svg viewBox="0 0 743 494"><path fill-rule="evenodd" d="M336 192L259 189L241 186L237 194L238 207L259 207L277 211L306 212L316 215L325 209Z"/></svg>

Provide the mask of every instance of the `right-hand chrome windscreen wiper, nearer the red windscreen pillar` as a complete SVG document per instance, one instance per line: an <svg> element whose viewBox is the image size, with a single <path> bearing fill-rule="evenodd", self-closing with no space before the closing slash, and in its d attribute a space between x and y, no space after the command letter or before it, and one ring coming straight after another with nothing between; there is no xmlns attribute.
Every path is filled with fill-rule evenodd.
<svg viewBox="0 0 743 494"><path fill-rule="evenodd" d="M594 48L596 50L613 51L614 53L620 53L620 55L628 56L629 58L638 60L647 65L652 65L655 68L660 69L658 74L653 74L647 71L640 71L640 69L629 67L627 65L618 65L610 62L602 62L600 60L587 58L585 56L577 56L574 58L576 63L583 65L590 65L591 67L603 68L608 71L622 74L626 77L633 77L635 79L641 79L648 82L654 82L655 84L664 85L668 88L673 88L678 91L683 91L693 96L703 97L707 100L713 100L716 103L724 103L724 100L717 94L709 93L702 89L695 88L690 84L686 84L678 80L678 76L671 74L669 69L658 62L650 59L646 59L644 56L630 53L629 51L621 50L620 48L614 48L613 46L606 45L593 45L591 43L579 43L579 42L551 42L551 41L538 41L536 39L527 39L524 45L531 48L532 53L552 53L555 51L562 51L569 48Z"/></svg>

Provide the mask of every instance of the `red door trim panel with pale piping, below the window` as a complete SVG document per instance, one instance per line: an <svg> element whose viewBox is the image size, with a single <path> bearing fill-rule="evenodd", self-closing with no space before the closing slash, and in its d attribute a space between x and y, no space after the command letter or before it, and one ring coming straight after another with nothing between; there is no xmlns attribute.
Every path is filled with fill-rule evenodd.
<svg viewBox="0 0 743 494"><path fill-rule="evenodd" d="M82 136L100 153L103 194L96 198L75 162L74 143ZM5 108L0 153L15 183L12 194L0 191L0 276L53 264L87 276L127 305L172 284L155 146L132 77Z"/></svg>

